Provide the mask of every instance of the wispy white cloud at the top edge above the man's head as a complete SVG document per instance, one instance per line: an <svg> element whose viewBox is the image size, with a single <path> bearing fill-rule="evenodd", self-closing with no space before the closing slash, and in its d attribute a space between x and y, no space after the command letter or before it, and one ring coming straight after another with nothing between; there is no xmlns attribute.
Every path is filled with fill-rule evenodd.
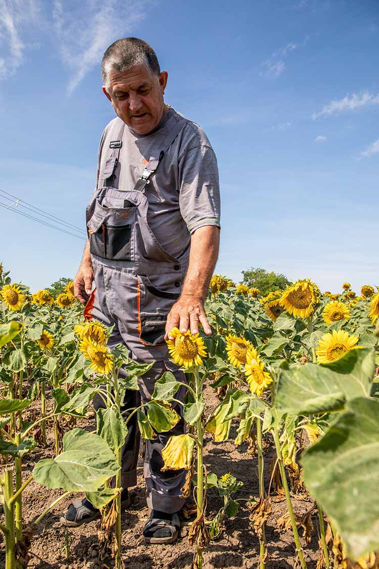
<svg viewBox="0 0 379 569"><path fill-rule="evenodd" d="M72 72L67 92L73 90L98 65L106 48L135 30L147 15L151 0L85 0L53 2L53 19L61 59Z"/></svg>

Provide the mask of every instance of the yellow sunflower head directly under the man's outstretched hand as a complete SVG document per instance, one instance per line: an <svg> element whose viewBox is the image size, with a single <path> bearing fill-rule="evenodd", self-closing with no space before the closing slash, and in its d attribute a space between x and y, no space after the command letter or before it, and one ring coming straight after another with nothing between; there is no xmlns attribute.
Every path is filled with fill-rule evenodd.
<svg viewBox="0 0 379 569"><path fill-rule="evenodd" d="M199 333L191 334L189 330L181 332L173 328L170 332L173 340L166 340L168 351L175 364L190 368L191 365L201 365L201 356L206 356L206 348Z"/></svg>

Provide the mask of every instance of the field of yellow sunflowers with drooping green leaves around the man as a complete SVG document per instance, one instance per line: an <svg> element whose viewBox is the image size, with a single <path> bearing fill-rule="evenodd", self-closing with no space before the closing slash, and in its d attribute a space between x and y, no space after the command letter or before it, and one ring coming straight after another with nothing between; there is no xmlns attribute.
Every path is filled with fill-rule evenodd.
<svg viewBox="0 0 379 569"><path fill-rule="evenodd" d="M357 295L346 282L322 293L303 279L261 296L214 275L206 312L211 336L174 328L168 341L170 357L186 374L187 429L168 440L164 469L188 471L182 496L191 566L207 567L213 544L244 518L248 547L257 550L244 567L286 566L276 565L267 538L281 502L274 523L291 531L292 566L379 567L379 292L366 285ZM0 560L6 569L36 566L39 528L73 493L85 493L101 510L97 567L127 563L120 459L128 420L136 414L144 439L170 430L180 419L173 402L181 384L164 373L151 401L125 419L124 394L138 390L138 377L152 364L132 360L123 345L110 351L109 335L101 323L84 320L72 283L57 298L47 290L31 294L1 267ZM118 374L121 366L126 378ZM105 402L97 413L95 396ZM243 490L227 456L222 473L210 471L207 447L226 442L230 455L248 448L245 475L256 481L256 494ZM39 511L30 519L32 486L55 492L49 503L33 502ZM210 511L214 494L218 508ZM310 504L302 514L294 508L299 497ZM316 558L308 549L314 537ZM78 567L70 542L65 529L64 557ZM179 566L185 563L160 564Z"/></svg>

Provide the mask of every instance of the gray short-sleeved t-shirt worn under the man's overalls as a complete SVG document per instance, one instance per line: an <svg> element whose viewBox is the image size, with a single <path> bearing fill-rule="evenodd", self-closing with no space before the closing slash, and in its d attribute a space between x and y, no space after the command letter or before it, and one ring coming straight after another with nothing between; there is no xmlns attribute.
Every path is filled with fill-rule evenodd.
<svg viewBox="0 0 379 569"><path fill-rule="evenodd" d="M183 117L169 108L152 133L124 129L114 187L133 189L152 155L165 150L172 125ZM220 192L217 160L204 131L189 121L180 131L144 190L149 201L148 223L157 240L173 257L188 253L190 234L204 225L220 226ZM119 137L120 118L103 131L99 146L97 187L110 157L109 143Z"/></svg>

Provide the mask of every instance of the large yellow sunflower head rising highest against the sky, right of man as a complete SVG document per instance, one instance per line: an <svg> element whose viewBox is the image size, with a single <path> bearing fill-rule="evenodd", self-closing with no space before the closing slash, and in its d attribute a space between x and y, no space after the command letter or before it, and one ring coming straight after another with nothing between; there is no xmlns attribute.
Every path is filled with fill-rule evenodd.
<svg viewBox="0 0 379 569"><path fill-rule="evenodd" d="M280 304L289 314L308 318L320 299L320 290L309 279L297 281L282 293Z"/></svg>

